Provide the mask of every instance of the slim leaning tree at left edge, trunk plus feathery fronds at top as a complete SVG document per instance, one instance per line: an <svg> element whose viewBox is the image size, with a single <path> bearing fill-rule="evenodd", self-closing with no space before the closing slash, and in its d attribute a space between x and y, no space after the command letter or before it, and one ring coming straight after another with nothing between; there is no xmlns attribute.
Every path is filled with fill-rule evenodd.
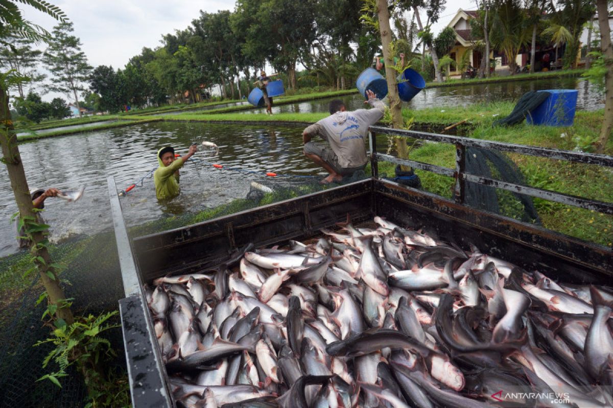
<svg viewBox="0 0 613 408"><path fill-rule="evenodd" d="M44 0L18 0L21 4L34 7L59 21L66 21L66 15L58 7ZM24 20L15 0L0 2L0 45L7 45L6 39L10 36L20 36L34 40L45 41L49 33L44 28ZM29 195L28 180L23 169L23 162L17 144L17 135L13 128L9 111L9 87L24 78L14 72L0 73L0 145L2 147L2 162L9 173L10 185L15 196L21 220L26 222L36 220L32 199ZM47 290L51 304L58 306L56 317L58 321L72 324L73 317L70 308L66 305L64 291L59 285L58 275L53 268L51 258L45 247L44 229L32 232L32 253L37 265L42 283Z"/></svg>

